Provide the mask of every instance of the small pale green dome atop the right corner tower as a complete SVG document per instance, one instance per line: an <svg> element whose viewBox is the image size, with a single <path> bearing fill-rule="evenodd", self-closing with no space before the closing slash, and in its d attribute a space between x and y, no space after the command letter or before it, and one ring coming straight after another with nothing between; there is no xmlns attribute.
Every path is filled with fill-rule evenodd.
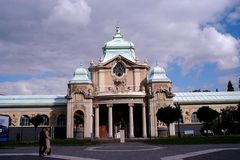
<svg viewBox="0 0 240 160"><path fill-rule="evenodd" d="M165 70L158 65L150 71L148 77L148 82L171 82L167 77Z"/></svg>

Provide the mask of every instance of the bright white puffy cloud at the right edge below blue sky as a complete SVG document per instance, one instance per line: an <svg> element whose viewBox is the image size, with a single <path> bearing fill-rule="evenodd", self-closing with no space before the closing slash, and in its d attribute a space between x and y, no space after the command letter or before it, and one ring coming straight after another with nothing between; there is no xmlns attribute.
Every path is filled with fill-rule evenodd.
<svg viewBox="0 0 240 160"><path fill-rule="evenodd" d="M229 34L218 32L208 26L198 30L190 45L189 55L184 57L183 72L202 63L216 63L221 70L233 69L240 66L238 46L239 40ZM186 50L185 50L186 51ZM182 51L184 54L184 50Z"/></svg>

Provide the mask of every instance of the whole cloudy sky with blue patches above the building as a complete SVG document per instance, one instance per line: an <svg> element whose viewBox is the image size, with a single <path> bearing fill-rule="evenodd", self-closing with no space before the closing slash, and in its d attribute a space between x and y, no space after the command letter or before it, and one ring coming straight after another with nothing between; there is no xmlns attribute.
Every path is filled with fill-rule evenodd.
<svg viewBox="0 0 240 160"><path fill-rule="evenodd" d="M175 92L238 90L240 0L0 0L0 94L65 94L117 24Z"/></svg>

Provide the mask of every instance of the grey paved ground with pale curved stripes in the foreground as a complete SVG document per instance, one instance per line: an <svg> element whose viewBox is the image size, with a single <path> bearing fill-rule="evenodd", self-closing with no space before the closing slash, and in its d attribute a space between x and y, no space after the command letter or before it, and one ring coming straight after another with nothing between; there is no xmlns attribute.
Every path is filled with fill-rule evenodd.
<svg viewBox="0 0 240 160"><path fill-rule="evenodd" d="M0 149L1 160L239 160L240 144L147 145L106 143L96 146L53 146L53 155L39 158L37 147Z"/></svg>

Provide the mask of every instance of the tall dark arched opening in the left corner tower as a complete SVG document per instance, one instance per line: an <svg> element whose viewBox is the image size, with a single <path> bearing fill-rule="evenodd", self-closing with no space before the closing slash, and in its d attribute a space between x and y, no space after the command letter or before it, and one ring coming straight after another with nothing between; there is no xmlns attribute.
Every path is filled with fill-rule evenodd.
<svg viewBox="0 0 240 160"><path fill-rule="evenodd" d="M76 139L84 138L84 113L81 110L74 112L74 137Z"/></svg>

